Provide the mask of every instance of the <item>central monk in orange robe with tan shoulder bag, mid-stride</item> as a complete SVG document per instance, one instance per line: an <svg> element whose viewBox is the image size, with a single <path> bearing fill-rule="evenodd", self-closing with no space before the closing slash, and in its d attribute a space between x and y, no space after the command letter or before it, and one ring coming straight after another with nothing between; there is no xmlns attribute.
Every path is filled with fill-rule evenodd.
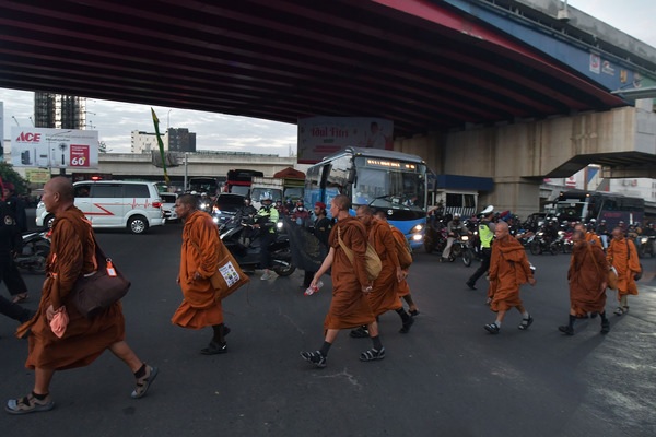
<svg viewBox="0 0 656 437"><path fill-rule="evenodd" d="M303 359L319 368L326 367L328 352L339 331L362 324L367 327L373 347L361 353L360 361L385 358L385 347L378 335L378 323L366 296L373 288L366 274L364 260L366 231L358 218L349 215L350 208L351 200L343 194L336 196L330 202L330 215L337 218L337 223L328 237L330 247L328 256L311 283L311 286L316 286L321 275L332 268L332 300L324 321L324 344L315 352L301 352ZM342 248L342 244L353 251L353 262Z"/></svg>

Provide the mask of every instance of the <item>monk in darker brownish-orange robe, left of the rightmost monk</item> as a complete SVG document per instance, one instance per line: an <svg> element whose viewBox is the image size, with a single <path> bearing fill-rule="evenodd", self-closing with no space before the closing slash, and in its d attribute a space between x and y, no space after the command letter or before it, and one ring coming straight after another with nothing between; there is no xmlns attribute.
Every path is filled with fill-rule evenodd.
<svg viewBox="0 0 656 437"><path fill-rule="evenodd" d="M608 277L608 262L599 243L586 240L583 229L574 231L572 235L574 247L572 260L567 271L570 282L570 319L566 326L558 329L574 335L574 322L577 318L601 316L601 333L610 331L610 322L606 318L606 281Z"/></svg>

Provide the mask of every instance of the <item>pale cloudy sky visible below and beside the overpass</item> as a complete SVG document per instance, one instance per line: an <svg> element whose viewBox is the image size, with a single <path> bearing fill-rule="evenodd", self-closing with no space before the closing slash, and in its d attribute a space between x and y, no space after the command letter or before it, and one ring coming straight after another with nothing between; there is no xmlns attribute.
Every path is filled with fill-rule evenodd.
<svg viewBox="0 0 656 437"><path fill-rule="evenodd" d="M569 0L569 4L656 47L655 0ZM4 137L9 138L16 123L32 126L34 93L0 88L0 102L4 102ZM171 107L154 109L161 128L171 123L172 128L188 128L196 132L198 150L277 153L280 156L289 156L290 150L296 151L295 125ZM98 131L101 141L110 152L129 152L132 130L153 131L149 106L90 98L86 110L87 122Z"/></svg>

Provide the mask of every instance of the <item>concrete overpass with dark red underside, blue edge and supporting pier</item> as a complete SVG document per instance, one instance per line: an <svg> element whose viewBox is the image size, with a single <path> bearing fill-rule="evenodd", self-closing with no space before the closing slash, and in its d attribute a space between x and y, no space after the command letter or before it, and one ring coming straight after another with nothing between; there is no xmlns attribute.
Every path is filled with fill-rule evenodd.
<svg viewBox="0 0 656 437"><path fill-rule="evenodd" d="M558 0L5 0L0 24L0 86L388 118L395 149L493 177L483 201L519 213L542 177L656 166L653 105L631 99L656 50Z"/></svg>

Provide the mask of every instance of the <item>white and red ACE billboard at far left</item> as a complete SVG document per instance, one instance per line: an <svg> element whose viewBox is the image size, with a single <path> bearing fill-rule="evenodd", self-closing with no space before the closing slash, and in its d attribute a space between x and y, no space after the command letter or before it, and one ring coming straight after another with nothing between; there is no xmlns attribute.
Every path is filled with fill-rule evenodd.
<svg viewBox="0 0 656 437"><path fill-rule="evenodd" d="M14 167L98 168L98 132L12 128L11 163Z"/></svg>

